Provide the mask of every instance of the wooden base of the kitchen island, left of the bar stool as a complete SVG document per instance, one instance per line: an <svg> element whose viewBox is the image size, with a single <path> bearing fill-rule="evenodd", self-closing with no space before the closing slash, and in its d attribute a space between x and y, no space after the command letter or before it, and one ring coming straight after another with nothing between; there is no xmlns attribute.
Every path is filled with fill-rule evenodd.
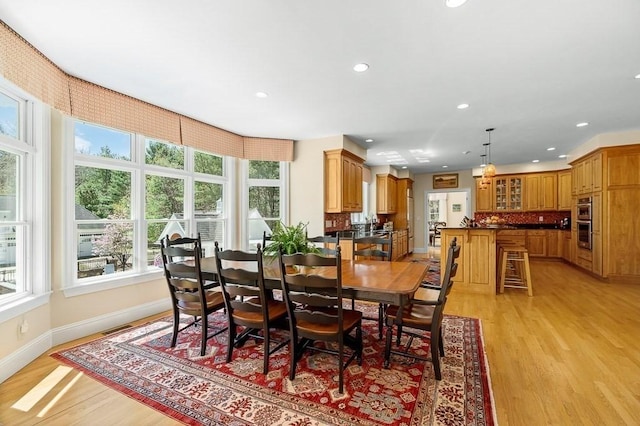
<svg viewBox="0 0 640 426"><path fill-rule="evenodd" d="M499 228L443 228L440 259L444 265L447 248L457 238L460 246L458 272L453 278L453 291L495 295L496 231Z"/></svg>

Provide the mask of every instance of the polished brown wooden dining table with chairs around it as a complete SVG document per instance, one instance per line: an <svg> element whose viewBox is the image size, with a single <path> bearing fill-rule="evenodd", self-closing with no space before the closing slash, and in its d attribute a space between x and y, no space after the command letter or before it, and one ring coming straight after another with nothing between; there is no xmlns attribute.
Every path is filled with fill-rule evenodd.
<svg viewBox="0 0 640 426"><path fill-rule="evenodd" d="M402 306L420 287L427 265L419 262L385 262L381 260L342 260L342 288L356 300ZM216 274L215 257L200 260L202 272ZM238 266L246 267L246 265ZM280 265L275 257L265 257L265 285L280 289ZM335 276L335 268L313 267L313 274Z"/></svg>

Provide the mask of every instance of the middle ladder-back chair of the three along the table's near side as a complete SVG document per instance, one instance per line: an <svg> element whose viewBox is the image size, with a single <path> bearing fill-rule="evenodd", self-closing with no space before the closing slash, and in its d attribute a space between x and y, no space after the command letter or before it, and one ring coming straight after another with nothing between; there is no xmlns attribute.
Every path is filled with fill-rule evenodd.
<svg viewBox="0 0 640 426"><path fill-rule="evenodd" d="M284 347L288 339L271 348L271 328L286 330L287 307L274 300L265 289L262 250L256 252L220 250L215 242L215 258L229 320L227 362L231 361L234 346L242 346L250 337L263 341L263 374L269 371L269 356ZM238 327L243 330L238 334ZM259 334L261 332L261 334Z"/></svg>

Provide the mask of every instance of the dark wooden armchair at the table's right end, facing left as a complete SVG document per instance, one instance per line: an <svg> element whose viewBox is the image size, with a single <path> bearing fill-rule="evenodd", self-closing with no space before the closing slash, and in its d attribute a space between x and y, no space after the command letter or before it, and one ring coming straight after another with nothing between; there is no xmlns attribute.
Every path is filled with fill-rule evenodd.
<svg viewBox="0 0 640 426"><path fill-rule="evenodd" d="M385 344L384 365L389 366L391 354L402 355L422 361L430 361L436 380L442 379L440 369L440 357L444 356L444 342L442 334L442 319L444 318L444 307L447 297L453 286L453 277L458 270L456 259L460 256L460 246L457 245L456 238L451 241L447 250L446 266L442 279L442 286L437 291L437 298L424 300L412 298L408 304L403 306L402 311L395 305L388 306L385 312L387 325L387 338ZM436 290L434 287L433 290ZM409 336L404 350L392 348L393 327L398 329L396 345L400 346L402 333ZM409 330L407 330L409 329ZM428 336L425 334L428 333ZM431 357L425 358L421 354L410 352L414 338L429 340L431 347Z"/></svg>

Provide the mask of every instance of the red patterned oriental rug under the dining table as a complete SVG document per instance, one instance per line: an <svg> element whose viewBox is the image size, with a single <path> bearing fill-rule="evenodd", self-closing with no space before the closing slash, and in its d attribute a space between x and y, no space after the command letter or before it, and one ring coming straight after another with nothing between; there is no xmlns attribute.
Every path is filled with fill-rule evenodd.
<svg viewBox="0 0 640 426"><path fill-rule="evenodd" d="M375 307L373 307L375 308ZM224 325L222 313L211 315ZM217 323L217 324L216 324ZM364 321L362 366L345 371L338 393L332 355L307 352L288 378L289 353L270 358L262 374L262 344L249 340L225 362L226 333L210 339L200 356L199 331L180 333L170 348L170 318L129 328L52 356L107 386L190 425L493 425L495 409L480 322L444 319L442 380L430 363L393 358L383 368L384 340ZM283 335L284 337L284 335ZM428 341L412 350L425 355Z"/></svg>

